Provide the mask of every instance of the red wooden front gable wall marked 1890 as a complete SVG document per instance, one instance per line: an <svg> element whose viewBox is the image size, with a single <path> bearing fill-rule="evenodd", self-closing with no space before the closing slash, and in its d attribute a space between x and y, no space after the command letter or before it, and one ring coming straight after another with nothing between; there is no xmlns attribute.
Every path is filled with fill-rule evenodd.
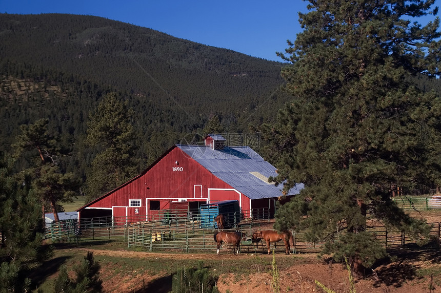
<svg viewBox="0 0 441 293"><path fill-rule="evenodd" d="M249 198L236 191L217 195L216 192L213 193L211 189L233 189L233 187L215 177L181 149L174 147L145 174L139 175L107 196L96 200L89 207L127 207L127 217L144 217L145 219L146 215L150 217L158 214L158 211L149 210L150 200L161 201L162 210L168 209L171 201L179 199L207 202L209 189L210 196L213 196L210 201L234 197L241 203L243 210L251 208ZM141 200L141 206L137 207L139 214L135 214L135 207L129 207L130 199ZM114 216L117 216L116 210L113 211ZM118 215L122 213L119 208L117 211Z"/></svg>

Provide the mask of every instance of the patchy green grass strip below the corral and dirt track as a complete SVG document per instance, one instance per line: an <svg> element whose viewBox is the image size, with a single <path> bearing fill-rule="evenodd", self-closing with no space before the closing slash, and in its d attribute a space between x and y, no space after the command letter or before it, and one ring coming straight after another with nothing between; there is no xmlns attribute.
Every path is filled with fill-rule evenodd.
<svg viewBox="0 0 441 293"><path fill-rule="evenodd" d="M131 256L130 252L145 251L137 248L128 248L127 243L124 241L94 241L88 243L72 244L72 243L55 243L54 256L46 261L42 268L38 269L31 277L33 280L38 280L35 284L39 289L44 292L52 292L55 282L55 273L58 271L62 264L66 264L68 271L71 271L73 267L81 262L86 256L87 248L102 249L102 250L116 250L118 252L126 251L127 257L116 256L104 256L94 255L95 260L101 265L102 279L123 280L127 274L130 275L142 275L149 274L150 276L164 276L172 275L176 273L179 268L185 267L197 267L200 258L193 258L195 253L185 254L181 250L172 250L167 254L169 256L176 255L176 259L169 258L156 258L146 257L136 258ZM71 249L71 248L83 248L83 249ZM225 252L224 252L225 253ZM199 255L205 255L201 253ZM215 254L215 247L213 246L212 252ZM185 255L183 257L183 255ZM308 261L297 257L287 257L284 254L276 255L277 267L279 269L286 269L293 265L307 263ZM223 259L208 258L204 259L204 267L210 268L210 271L216 271L216 274L230 274L234 273L237 278L240 276L249 275L253 273L262 273L271 271L272 258L268 255L255 255L251 258L245 258L237 256L236 258Z"/></svg>

